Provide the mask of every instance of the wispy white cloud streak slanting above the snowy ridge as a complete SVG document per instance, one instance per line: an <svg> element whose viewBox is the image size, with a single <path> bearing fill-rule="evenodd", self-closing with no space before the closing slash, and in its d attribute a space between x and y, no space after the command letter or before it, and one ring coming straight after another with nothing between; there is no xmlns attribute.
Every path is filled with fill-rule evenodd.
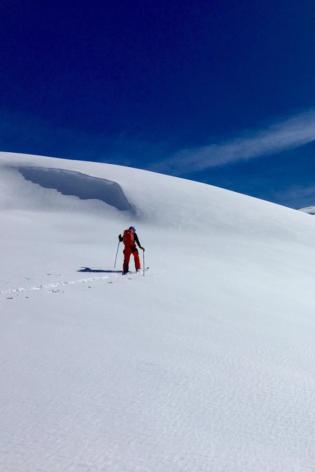
<svg viewBox="0 0 315 472"><path fill-rule="evenodd" d="M315 141L315 110L300 113L223 143L182 149L154 165L160 172L186 174L287 151Z"/></svg>

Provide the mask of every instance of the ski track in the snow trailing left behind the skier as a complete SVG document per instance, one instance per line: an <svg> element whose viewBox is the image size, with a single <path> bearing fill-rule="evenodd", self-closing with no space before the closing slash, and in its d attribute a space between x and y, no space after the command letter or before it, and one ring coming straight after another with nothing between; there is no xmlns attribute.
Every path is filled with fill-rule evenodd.
<svg viewBox="0 0 315 472"><path fill-rule="evenodd" d="M142 274L142 272L141 272ZM50 275L50 274L47 274ZM85 277L83 279L76 279L76 280L61 280L60 282L52 282L52 283L43 283L39 285L35 285L33 287L16 287L16 288L8 288L5 290L0 290L0 296L5 297L6 299L13 299L13 295L20 295L22 293L29 293L29 292L38 292L40 290L48 290L51 293L61 293L60 289L64 287L68 287L71 285L80 285L80 284L87 284L93 282L101 282L107 280L108 284L112 284L113 280L130 280L134 272L130 272L127 277L122 277L120 273L112 274L112 275L102 275L98 277Z"/></svg>

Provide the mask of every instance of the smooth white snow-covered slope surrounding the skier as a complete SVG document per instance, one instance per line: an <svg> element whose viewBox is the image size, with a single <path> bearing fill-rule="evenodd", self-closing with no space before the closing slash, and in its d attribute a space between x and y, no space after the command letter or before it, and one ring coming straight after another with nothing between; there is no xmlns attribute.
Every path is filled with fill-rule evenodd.
<svg viewBox="0 0 315 472"><path fill-rule="evenodd" d="M8 153L0 215L1 472L315 470L313 218Z"/></svg>

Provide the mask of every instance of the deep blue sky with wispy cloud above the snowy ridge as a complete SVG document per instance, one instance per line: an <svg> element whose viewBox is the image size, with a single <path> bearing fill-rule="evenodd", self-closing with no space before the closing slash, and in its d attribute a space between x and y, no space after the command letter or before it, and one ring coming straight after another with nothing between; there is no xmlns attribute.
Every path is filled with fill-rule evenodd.
<svg viewBox="0 0 315 472"><path fill-rule="evenodd" d="M0 150L315 203L312 0L0 4Z"/></svg>

